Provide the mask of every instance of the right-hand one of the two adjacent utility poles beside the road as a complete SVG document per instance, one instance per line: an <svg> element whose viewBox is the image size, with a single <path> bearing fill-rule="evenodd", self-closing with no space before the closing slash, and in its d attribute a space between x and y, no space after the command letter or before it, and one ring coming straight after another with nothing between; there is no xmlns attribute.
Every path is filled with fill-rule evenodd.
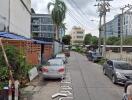
<svg viewBox="0 0 132 100"><path fill-rule="evenodd" d="M104 56L104 58L106 58L106 13L110 11L110 8L109 8L110 4L108 1L112 1L112 0L96 0L96 1L100 1L100 2L103 1L103 2L99 3L97 6L99 6L99 12L103 16L103 21L104 21L104 24L103 24L103 31L104 31L103 56ZM100 18L100 21L101 21L101 18ZM100 28L101 28L101 26L100 26ZM101 31L99 31L99 35L101 36ZM101 37L99 37L99 38L101 39Z"/></svg>

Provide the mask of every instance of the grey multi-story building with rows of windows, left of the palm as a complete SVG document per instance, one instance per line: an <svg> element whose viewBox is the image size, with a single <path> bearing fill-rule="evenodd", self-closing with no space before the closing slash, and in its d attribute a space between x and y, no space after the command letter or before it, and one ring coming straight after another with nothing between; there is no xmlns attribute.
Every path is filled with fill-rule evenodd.
<svg viewBox="0 0 132 100"><path fill-rule="evenodd" d="M50 14L32 14L31 31L33 37L53 38L55 27Z"/></svg>

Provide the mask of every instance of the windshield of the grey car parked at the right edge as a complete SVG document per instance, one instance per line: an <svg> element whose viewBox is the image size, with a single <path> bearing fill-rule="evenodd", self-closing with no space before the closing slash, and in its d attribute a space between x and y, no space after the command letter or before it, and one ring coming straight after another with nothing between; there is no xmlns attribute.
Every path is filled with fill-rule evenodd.
<svg viewBox="0 0 132 100"><path fill-rule="evenodd" d="M121 70L132 70L132 65L129 63L116 63L115 68Z"/></svg>

